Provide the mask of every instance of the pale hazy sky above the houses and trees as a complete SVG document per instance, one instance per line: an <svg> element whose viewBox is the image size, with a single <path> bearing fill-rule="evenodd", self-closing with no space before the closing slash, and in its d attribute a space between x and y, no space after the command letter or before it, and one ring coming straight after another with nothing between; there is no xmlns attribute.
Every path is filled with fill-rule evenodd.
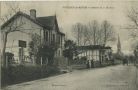
<svg viewBox="0 0 138 90"><path fill-rule="evenodd" d="M12 2L13 3L13 2ZM72 35L72 25L88 23L97 20L101 23L104 20L114 25L116 37L120 36L122 52L129 54L132 52L131 45L133 41L130 38L129 31L125 28L129 25L130 20L127 18L128 10L138 5L138 1L109 1L109 0L92 0L92 1L36 1L36 2L17 2L20 11L29 14L30 9L36 9L36 16L57 16L59 27L62 32L70 39ZM16 5L16 3L14 2ZM1 3L1 17L8 15L8 2ZM80 7L80 8L79 8ZM117 41L109 43L114 52L117 50Z"/></svg>

